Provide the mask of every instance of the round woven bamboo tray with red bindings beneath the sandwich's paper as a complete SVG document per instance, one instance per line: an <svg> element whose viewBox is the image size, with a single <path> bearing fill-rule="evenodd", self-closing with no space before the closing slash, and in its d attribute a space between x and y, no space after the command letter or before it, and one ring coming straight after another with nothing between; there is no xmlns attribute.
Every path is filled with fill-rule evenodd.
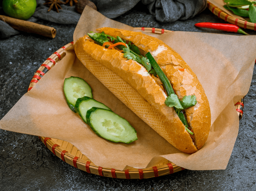
<svg viewBox="0 0 256 191"><path fill-rule="evenodd" d="M163 34L165 32L171 32L164 29L158 28L137 28L143 31L154 32ZM73 42L61 47L59 50L54 52L49 58L47 58L43 64L38 68L33 76L28 91L33 88L33 86L40 80L44 74L49 71L55 64L57 64L66 55L65 49L72 47ZM239 115L239 119L242 118L243 114L243 99L236 103L236 109ZM184 170L184 168L175 165L174 163L166 160L161 164L153 166L148 169L127 169L124 171L111 169L107 167L96 166L88 159L84 154L82 154L74 145L69 142L49 138L40 137L39 139L45 144L45 146L50 149L57 157L62 159L64 162L78 168L80 170L86 171L88 173L93 173L100 176L112 177L112 178L124 178L124 179L143 179L158 177L163 175L168 175L174 172Z"/></svg>

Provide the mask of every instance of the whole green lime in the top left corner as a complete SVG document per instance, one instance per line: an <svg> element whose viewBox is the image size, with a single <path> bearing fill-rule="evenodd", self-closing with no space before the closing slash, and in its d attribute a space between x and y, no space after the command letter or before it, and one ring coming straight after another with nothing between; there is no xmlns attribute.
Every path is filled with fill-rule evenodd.
<svg viewBox="0 0 256 191"><path fill-rule="evenodd" d="M27 20L35 12L36 0L3 0L4 12L13 18Z"/></svg>

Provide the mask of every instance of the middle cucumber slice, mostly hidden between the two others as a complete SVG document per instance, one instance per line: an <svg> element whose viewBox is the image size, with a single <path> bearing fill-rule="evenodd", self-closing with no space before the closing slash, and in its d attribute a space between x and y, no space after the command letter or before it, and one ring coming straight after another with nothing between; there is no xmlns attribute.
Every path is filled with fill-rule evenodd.
<svg viewBox="0 0 256 191"><path fill-rule="evenodd" d="M76 100L76 105L75 105L76 112L80 115L80 117L85 123L87 123L86 113L92 107L99 107L99 108L111 110L110 108L105 106L103 103L98 102L87 96L78 98Z"/></svg>

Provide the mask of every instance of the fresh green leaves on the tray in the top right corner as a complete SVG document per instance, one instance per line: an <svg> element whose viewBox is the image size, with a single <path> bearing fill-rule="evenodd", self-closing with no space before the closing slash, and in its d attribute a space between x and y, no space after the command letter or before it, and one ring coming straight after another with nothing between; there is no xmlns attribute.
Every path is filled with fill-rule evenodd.
<svg viewBox="0 0 256 191"><path fill-rule="evenodd" d="M249 17L249 22L256 23L256 1L250 0L224 0L224 8L231 10L235 15Z"/></svg>

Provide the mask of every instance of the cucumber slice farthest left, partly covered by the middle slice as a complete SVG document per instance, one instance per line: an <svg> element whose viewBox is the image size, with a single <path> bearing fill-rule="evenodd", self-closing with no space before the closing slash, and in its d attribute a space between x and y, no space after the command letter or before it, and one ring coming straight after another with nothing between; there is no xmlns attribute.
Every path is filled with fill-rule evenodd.
<svg viewBox="0 0 256 191"><path fill-rule="evenodd" d="M79 77L71 76L69 78L66 78L64 81L63 90L66 97L67 105L74 112L76 112L75 105L78 98L84 96L93 98L91 87L85 82L85 80Z"/></svg>

